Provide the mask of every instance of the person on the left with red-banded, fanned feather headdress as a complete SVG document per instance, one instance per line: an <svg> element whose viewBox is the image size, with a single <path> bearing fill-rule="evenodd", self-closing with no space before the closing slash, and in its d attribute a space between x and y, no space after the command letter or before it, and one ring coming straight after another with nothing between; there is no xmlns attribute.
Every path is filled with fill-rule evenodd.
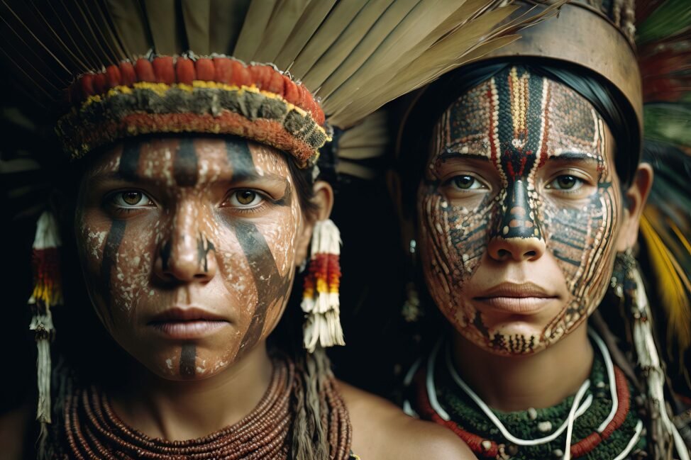
<svg viewBox="0 0 691 460"><path fill-rule="evenodd" d="M38 162L62 189L33 244L38 456L470 458L450 432L333 378L341 241L319 180L333 148L318 157L336 127L506 43L516 23L497 24L512 11L3 2L4 78L23 91L6 113L26 126L17 113L38 103L74 160L41 169L59 162L57 142L40 138L18 142L12 163ZM350 145L362 157L353 150L370 144L357 137L370 132L338 130L339 155ZM299 309L289 297L304 265Z"/></svg>

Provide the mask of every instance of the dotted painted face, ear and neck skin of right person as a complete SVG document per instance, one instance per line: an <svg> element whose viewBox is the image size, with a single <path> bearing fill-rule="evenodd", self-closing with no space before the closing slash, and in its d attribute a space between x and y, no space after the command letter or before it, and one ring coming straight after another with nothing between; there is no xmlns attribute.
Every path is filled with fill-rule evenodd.
<svg viewBox="0 0 691 460"><path fill-rule="evenodd" d="M456 366L493 408L555 405L590 374L586 319L614 255L636 242L651 183L641 164L622 192L612 133L590 103L524 69L438 120L406 228L454 328Z"/></svg>

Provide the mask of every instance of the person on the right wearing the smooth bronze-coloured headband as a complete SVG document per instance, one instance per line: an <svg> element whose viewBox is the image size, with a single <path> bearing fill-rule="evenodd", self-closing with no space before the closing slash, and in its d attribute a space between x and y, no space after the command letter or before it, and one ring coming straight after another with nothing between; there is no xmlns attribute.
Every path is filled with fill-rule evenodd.
<svg viewBox="0 0 691 460"><path fill-rule="evenodd" d="M651 44L656 21L682 3L641 13L641 57L687 62L687 11L665 26L677 42ZM480 458L689 459L678 362L691 337L691 162L677 118L666 144L648 133L660 176L646 208L653 169L640 162L633 21L633 2L565 5L420 91L402 124L393 182L404 233L450 325L444 337L428 334L405 405ZM668 101L658 116L685 100L663 91L674 80L661 70L643 69L656 78L646 100ZM656 127L652 107L646 130L648 119ZM636 253L659 300L646 296ZM663 353L660 337L680 347Z"/></svg>

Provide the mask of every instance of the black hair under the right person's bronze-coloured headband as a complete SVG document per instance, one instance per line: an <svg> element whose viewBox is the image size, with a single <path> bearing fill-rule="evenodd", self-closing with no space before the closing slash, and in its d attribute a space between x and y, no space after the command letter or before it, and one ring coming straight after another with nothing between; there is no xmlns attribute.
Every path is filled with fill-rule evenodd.
<svg viewBox="0 0 691 460"><path fill-rule="evenodd" d="M641 132L634 109L614 85L585 67L567 62L539 60L490 60L450 72L421 90L407 108L399 127L399 152L394 167L404 184L404 203L412 203L422 178L434 124L453 101L507 67L519 65L533 74L565 84L583 96L607 123L614 135L617 155L614 163L623 189L631 184L641 159ZM411 127L407 129L407 127Z"/></svg>

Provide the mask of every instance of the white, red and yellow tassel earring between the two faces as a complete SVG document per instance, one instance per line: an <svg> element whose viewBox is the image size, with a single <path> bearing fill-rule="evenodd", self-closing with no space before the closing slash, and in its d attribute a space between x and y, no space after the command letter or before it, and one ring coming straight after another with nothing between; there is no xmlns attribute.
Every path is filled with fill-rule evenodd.
<svg viewBox="0 0 691 460"><path fill-rule="evenodd" d="M304 347L312 353L318 343L321 347L346 344L338 299L341 232L331 219L320 220L314 225L310 253L301 306L307 315L303 330Z"/></svg>

